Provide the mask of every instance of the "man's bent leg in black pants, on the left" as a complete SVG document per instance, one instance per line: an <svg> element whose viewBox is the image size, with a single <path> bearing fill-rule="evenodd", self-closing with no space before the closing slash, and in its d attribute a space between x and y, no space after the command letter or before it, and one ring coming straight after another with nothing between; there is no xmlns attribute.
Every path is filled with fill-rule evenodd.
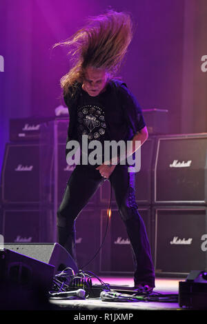
<svg viewBox="0 0 207 324"><path fill-rule="evenodd" d="M76 261L75 219L95 194L103 178L98 170L88 165L77 165L63 194L57 210L57 232L59 244L68 250Z"/></svg>

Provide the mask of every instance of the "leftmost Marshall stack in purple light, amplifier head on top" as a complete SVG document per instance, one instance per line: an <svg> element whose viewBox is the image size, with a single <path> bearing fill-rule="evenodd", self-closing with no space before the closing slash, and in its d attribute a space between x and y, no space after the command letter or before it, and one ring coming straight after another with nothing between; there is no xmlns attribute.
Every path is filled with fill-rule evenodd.
<svg viewBox="0 0 207 324"><path fill-rule="evenodd" d="M10 120L1 170L1 229L6 243L50 242L52 208L41 203L41 123L54 117Z"/></svg>

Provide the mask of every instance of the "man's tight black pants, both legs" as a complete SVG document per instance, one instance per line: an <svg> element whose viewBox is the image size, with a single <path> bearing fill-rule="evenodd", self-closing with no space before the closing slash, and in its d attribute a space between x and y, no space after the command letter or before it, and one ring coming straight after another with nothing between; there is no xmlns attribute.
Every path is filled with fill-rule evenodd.
<svg viewBox="0 0 207 324"><path fill-rule="evenodd" d="M57 210L59 244L68 250L75 261L75 219L103 181L108 181L95 168L92 165L76 165ZM135 173L128 172L128 165L116 165L109 181L132 245L135 283L155 287L155 272L146 227L135 201Z"/></svg>

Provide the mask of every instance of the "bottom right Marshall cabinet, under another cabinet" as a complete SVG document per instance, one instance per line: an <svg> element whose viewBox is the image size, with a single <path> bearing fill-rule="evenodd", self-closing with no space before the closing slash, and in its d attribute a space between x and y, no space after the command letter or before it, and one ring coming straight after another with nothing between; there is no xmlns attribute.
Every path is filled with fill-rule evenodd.
<svg viewBox="0 0 207 324"><path fill-rule="evenodd" d="M206 267L207 208L155 207L155 272L186 276L191 269Z"/></svg>

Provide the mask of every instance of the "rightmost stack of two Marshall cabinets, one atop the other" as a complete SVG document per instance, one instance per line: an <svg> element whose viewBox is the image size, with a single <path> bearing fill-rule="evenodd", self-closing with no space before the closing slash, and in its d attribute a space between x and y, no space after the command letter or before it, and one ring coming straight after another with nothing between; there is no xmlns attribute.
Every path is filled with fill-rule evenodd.
<svg viewBox="0 0 207 324"><path fill-rule="evenodd" d="M152 241L157 274L207 267L207 133L157 136Z"/></svg>

